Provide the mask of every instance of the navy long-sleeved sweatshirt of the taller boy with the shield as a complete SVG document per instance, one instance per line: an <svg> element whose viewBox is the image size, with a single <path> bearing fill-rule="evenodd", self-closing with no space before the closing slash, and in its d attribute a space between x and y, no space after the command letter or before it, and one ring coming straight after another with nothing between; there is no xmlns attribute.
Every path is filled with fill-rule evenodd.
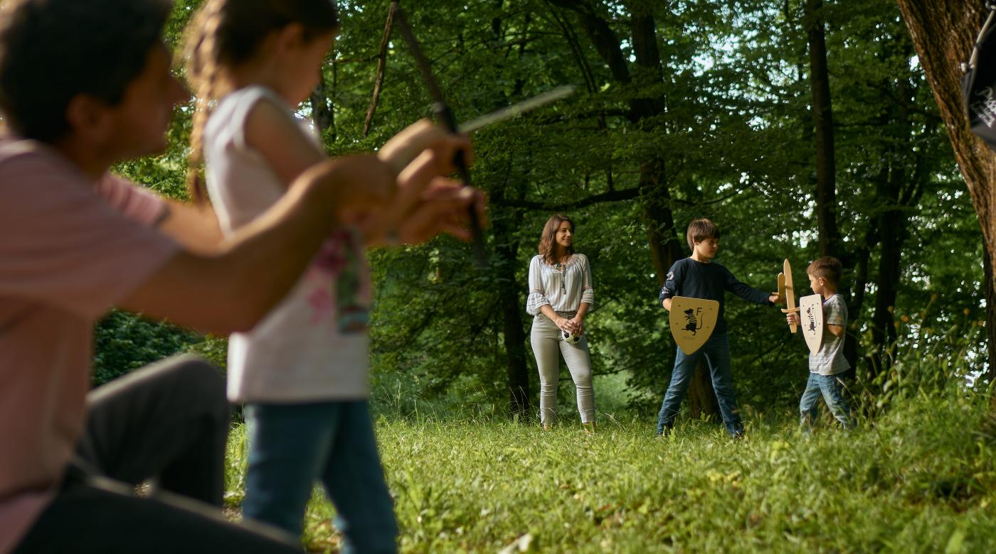
<svg viewBox="0 0 996 554"><path fill-rule="evenodd" d="M716 327L712 332L714 334L724 333L726 332L726 319L723 317L725 304L723 297L727 290L748 302L775 305L768 300L768 296L771 295L769 292L741 282L737 277L733 277L733 274L725 267L715 262L703 264L691 258L678 260L671 266L670 271L667 272L667 278L664 280L664 286L660 289L660 294L657 295L657 305L660 305L664 298L674 296L717 300L719 302L719 315L716 317Z"/></svg>

